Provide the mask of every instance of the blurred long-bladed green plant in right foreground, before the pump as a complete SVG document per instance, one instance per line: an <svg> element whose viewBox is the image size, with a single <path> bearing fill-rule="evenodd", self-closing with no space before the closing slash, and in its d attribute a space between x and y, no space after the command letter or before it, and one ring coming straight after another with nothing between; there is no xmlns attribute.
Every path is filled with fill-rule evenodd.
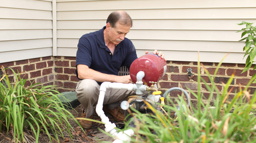
<svg viewBox="0 0 256 143"><path fill-rule="evenodd" d="M133 129L135 137L131 138L134 143L211 143L211 142L255 142L256 137L256 95L249 95L247 91L248 85L256 78L250 80L244 89L240 89L232 99L229 99L229 87L232 83L233 76L224 85L221 93L214 83L215 75L220 67L219 63L215 74L207 73L211 86L198 73L198 84L202 81L207 90L210 92L209 98L205 98L203 94L198 92L195 94L190 92L197 99L197 106L187 107L186 101L182 96L175 99L180 107L178 110L173 100L167 96L169 104L164 105L171 111L177 113L177 118L170 117L168 114L161 114L154 108L151 108L156 115L146 115L136 112L133 118L126 123L122 130ZM198 62L198 68L200 63ZM200 86L198 86L200 88ZM199 89L200 91L200 89ZM216 96L214 94L217 94ZM210 99L214 100L211 101ZM213 105L212 105L213 103ZM129 127L129 123L134 121L136 127ZM154 132L152 132L154 131Z"/></svg>

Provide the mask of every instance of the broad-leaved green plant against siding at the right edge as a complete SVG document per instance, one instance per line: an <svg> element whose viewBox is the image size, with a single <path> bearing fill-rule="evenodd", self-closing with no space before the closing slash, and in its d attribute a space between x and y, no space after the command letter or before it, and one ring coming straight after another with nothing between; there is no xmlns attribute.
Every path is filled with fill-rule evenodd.
<svg viewBox="0 0 256 143"><path fill-rule="evenodd" d="M256 56L256 26L252 26L253 23L248 23L245 21L243 21L242 23L240 23L238 25L244 25L244 24L246 25L246 28L243 28L243 29L237 31L237 32L243 31L241 38L243 38L244 36L247 36L247 37L244 37L243 39L239 40L239 41L245 40L245 46L243 48L243 51L245 51L244 58L246 55L249 54L249 56L247 56L247 58L246 58L245 68L242 71L242 73L247 71L252 66L252 64L255 62L253 60ZM253 70L255 70L255 69L256 69L256 65L254 66ZM256 83L256 81L254 81L253 83Z"/></svg>

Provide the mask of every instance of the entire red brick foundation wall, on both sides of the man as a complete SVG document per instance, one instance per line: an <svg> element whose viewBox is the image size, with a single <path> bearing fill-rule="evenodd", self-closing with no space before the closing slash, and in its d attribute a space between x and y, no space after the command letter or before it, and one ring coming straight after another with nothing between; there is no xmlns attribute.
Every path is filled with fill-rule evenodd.
<svg viewBox="0 0 256 143"><path fill-rule="evenodd" d="M12 68L14 71L27 71L27 74L22 73L24 78L28 78L30 81L36 83L40 82L43 85L56 85L56 88L60 91L75 91L76 83L78 79L75 75L75 57L64 57L64 56L48 56L41 58L34 58L28 60L0 63L4 67ZM213 78L213 74L218 63L203 63L204 67L211 74L210 77ZM232 73L235 77L231 82L229 87L230 96L233 97L236 90L240 87L245 87L248 81L251 79L252 75L256 73L256 70L249 70L245 73L243 71L245 64L227 64L223 63L219 68L214 83L218 88L219 92L222 93L224 90L224 84L228 81ZM191 68L194 73L193 78L189 78L187 75L187 69ZM13 74L11 70L7 70L10 74L11 80L13 79ZM211 86L210 80L201 66L200 71L197 70L197 62L179 62L179 61L167 61L167 71L166 74L158 83L158 88L165 92L165 90L171 87L182 87L187 90L187 87L192 91L197 93L198 83L197 75L200 72L201 77ZM224 84L223 84L224 83ZM27 82L26 84L29 84ZM251 84L248 88L250 94L255 91L255 85ZM206 88L205 84L201 82L199 85L200 92L205 98L209 97L209 90ZM188 90L187 90L188 91ZM193 100L195 97L188 91L190 98ZM171 92L172 97L177 97L180 94L178 91ZM216 91L214 92L216 95Z"/></svg>

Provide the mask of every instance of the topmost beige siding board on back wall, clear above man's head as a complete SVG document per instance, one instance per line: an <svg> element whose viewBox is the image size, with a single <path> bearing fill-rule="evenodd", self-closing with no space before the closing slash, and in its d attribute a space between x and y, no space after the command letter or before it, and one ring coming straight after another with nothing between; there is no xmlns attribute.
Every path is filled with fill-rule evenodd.
<svg viewBox="0 0 256 143"><path fill-rule="evenodd" d="M86 1L86 3L84 3ZM57 0L58 11L109 10L109 9L160 9L160 8L247 8L255 0Z"/></svg>

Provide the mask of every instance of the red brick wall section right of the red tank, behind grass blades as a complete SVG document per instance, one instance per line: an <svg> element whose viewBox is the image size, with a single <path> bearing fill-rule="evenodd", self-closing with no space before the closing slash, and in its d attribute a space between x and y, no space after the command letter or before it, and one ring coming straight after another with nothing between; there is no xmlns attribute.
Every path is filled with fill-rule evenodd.
<svg viewBox="0 0 256 143"><path fill-rule="evenodd" d="M219 63L202 63L204 67L209 71L210 78L213 79L214 72ZM219 92L222 93L224 91L224 86L227 83L228 79L231 77L232 73L235 75L234 79L231 82L228 91L230 91L229 99L234 97L236 91L239 91L240 87L243 88L247 85L253 74L256 72L255 70L249 70L244 73L241 73L245 67L245 64L221 64L219 70L216 73L214 78L214 84L218 88ZM189 78L187 75L187 69L191 68L194 73L193 78ZM200 71L197 70L197 62L179 62L179 61L167 61L167 71L166 74L162 77L162 79L158 83L158 87L162 92L171 88L171 87L181 87L185 89L189 94L191 100L195 99L187 88L190 88L193 92L197 94L198 83L197 83L197 75L200 72L201 78L203 78L207 85L211 87L211 82L209 77L207 76L205 69L203 66L200 67ZM255 85L251 84L248 88L250 94L253 94L255 91ZM208 99L210 91L206 88L203 82L199 85L201 95ZM213 92L213 99L216 97L216 91ZM170 96L177 97L177 94L181 95L179 91L173 91L170 93ZM213 100L211 99L211 100Z"/></svg>

